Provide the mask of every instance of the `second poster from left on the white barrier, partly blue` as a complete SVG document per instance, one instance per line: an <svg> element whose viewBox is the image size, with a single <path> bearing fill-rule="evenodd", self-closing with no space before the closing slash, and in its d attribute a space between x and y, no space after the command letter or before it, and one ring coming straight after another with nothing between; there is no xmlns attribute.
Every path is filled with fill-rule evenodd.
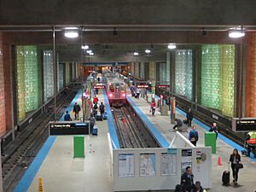
<svg viewBox="0 0 256 192"><path fill-rule="evenodd" d="M155 176L155 154L140 154L140 176Z"/></svg>

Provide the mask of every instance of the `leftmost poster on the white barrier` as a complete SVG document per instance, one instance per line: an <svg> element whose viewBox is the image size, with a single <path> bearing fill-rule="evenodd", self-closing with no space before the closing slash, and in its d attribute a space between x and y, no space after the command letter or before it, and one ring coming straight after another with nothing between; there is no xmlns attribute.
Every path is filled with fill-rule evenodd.
<svg viewBox="0 0 256 192"><path fill-rule="evenodd" d="M134 154L119 154L119 177L134 176Z"/></svg>

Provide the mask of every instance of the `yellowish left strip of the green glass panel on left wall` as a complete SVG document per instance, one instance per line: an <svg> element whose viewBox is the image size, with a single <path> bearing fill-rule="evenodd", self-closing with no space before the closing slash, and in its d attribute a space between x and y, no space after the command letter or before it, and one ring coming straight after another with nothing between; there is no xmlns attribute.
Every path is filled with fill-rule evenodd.
<svg viewBox="0 0 256 192"><path fill-rule="evenodd" d="M23 46L16 47L16 61L17 61L17 110L18 120L25 119L25 62Z"/></svg>

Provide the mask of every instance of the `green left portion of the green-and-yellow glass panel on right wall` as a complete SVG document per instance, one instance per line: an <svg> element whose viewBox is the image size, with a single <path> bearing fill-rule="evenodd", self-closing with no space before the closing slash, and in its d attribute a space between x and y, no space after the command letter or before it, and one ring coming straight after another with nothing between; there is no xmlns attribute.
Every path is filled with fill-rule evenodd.
<svg viewBox="0 0 256 192"><path fill-rule="evenodd" d="M221 47L202 45L201 48L201 104L221 110L222 67Z"/></svg>

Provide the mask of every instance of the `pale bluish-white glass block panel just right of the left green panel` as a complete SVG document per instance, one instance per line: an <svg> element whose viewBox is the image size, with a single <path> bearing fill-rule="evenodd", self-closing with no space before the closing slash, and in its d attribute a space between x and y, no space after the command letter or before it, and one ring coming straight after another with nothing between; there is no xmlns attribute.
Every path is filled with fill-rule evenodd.
<svg viewBox="0 0 256 192"><path fill-rule="evenodd" d="M54 96L54 64L53 51L43 51L43 66L44 66L44 102L47 102L50 97Z"/></svg>

